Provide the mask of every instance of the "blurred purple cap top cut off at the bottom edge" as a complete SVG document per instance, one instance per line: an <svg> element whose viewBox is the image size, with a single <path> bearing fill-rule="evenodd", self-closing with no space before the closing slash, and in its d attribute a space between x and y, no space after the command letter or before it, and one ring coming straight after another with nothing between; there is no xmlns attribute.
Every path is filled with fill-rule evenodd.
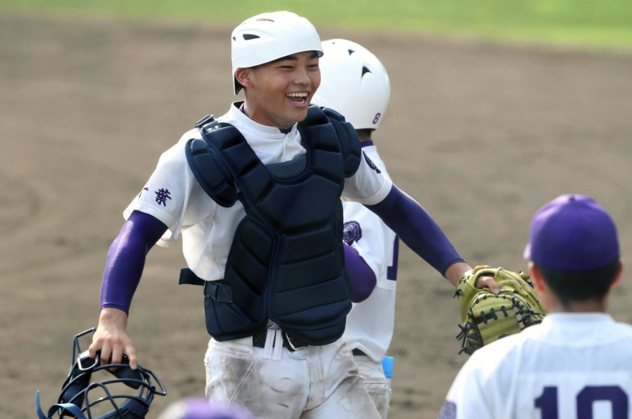
<svg viewBox="0 0 632 419"><path fill-rule="evenodd" d="M254 419L254 416L240 406L189 397L168 406L159 419Z"/></svg>

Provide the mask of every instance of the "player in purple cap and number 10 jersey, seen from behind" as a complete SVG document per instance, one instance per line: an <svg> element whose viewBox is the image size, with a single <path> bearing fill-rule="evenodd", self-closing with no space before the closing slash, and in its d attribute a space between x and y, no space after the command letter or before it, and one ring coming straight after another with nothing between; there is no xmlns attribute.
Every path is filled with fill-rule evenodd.
<svg viewBox="0 0 632 419"><path fill-rule="evenodd" d="M632 326L607 314L622 273L612 217L559 196L533 217L524 256L547 316L476 351L440 418L632 418Z"/></svg>

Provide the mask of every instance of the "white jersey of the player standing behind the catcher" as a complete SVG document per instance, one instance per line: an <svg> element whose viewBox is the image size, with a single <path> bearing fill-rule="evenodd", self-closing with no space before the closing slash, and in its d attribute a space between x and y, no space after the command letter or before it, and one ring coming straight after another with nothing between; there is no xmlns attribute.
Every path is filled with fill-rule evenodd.
<svg viewBox="0 0 632 419"><path fill-rule="evenodd" d="M375 146L364 146L362 151L380 168L382 175L390 179ZM391 344L395 323L397 237L364 205L344 203L344 210L343 240L371 267L377 284L366 300L353 304L343 339L350 349L357 348L373 361L382 362Z"/></svg>

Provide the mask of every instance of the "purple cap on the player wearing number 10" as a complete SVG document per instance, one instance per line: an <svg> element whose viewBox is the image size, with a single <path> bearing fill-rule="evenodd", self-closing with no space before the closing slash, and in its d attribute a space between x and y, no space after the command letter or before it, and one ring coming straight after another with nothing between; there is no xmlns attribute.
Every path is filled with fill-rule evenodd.
<svg viewBox="0 0 632 419"><path fill-rule="evenodd" d="M525 259L552 270L583 272L618 257L615 221L588 196L559 196L533 216Z"/></svg>

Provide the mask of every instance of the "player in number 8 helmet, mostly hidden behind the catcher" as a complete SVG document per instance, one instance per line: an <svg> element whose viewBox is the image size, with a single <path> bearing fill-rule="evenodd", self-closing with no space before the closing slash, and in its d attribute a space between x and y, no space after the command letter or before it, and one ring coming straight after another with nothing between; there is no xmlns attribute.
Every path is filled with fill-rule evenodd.
<svg viewBox="0 0 632 419"><path fill-rule="evenodd" d="M321 83L312 103L333 108L356 128L362 151L382 175L389 177L372 133L382 122L389 104L391 84L386 68L365 47L345 39L322 42ZM382 419L388 417L391 388L382 359L393 337L397 277L397 235L364 205L343 203L347 271L368 295L353 305L343 339L352 351L364 385Z"/></svg>

